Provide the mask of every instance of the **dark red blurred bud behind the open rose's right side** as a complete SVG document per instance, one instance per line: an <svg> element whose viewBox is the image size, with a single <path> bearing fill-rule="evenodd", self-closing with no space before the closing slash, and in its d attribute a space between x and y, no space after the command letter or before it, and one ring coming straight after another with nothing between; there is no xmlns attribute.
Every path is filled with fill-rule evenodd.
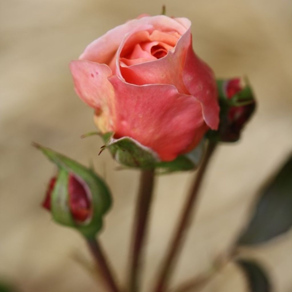
<svg viewBox="0 0 292 292"><path fill-rule="evenodd" d="M213 138L223 142L239 140L244 125L251 118L256 102L247 85L241 85L240 78L218 80L220 100L220 124L218 131L212 131Z"/></svg>

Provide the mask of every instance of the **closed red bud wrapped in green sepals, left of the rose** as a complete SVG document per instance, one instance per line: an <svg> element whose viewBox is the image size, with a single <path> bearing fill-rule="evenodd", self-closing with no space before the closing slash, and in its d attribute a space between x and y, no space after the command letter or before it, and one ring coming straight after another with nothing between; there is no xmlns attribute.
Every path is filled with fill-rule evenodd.
<svg viewBox="0 0 292 292"><path fill-rule="evenodd" d="M49 148L35 144L58 166L48 185L43 207L62 225L74 227L91 238L102 227L111 205L109 190L93 170Z"/></svg>

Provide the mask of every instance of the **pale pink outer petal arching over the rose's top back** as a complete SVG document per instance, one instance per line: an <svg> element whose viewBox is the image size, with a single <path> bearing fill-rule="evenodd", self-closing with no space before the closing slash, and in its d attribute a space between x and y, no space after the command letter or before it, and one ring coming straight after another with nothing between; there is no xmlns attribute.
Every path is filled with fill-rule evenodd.
<svg viewBox="0 0 292 292"><path fill-rule="evenodd" d="M125 35L133 32L138 25L148 25L149 29L158 28L162 31L175 30L179 34L185 32L185 27L182 24L164 15L133 19L109 30L106 34L93 41L86 47L79 59L109 64Z"/></svg>

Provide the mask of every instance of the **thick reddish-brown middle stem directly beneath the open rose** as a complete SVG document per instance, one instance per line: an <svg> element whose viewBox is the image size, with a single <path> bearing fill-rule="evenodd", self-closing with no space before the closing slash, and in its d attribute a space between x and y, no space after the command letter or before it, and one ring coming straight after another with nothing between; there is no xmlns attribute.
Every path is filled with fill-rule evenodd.
<svg viewBox="0 0 292 292"><path fill-rule="evenodd" d="M137 292L140 286L143 244L147 232L150 205L154 187L154 169L141 172L138 201L135 209L133 244L130 258L129 292Z"/></svg>

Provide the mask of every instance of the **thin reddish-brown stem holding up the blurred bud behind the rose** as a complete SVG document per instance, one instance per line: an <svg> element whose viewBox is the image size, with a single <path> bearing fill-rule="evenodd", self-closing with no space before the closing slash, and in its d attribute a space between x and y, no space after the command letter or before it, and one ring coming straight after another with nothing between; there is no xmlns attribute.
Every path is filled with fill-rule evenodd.
<svg viewBox="0 0 292 292"><path fill-rule="evenodd" d="M192 185L192 188L190 190L190 193L187 197L187 200L185 202L185 205L183 207L183 211L180 215L180 219L177 225L177 228L174 232L173 238L171 240L169 249L166 253L166 257L164 258L161 270L159 272L159 277L157 284L154 288L155 292L164 292L166 291L166 288L168 286L168 280L170 278L173 263L176 260L178 253L180 251L180 248L183 244L183 239L185 236L185 233L187 231L187 228L190 223L192 211L195 207L197 195L207 168L207 165L210 161L210 158L215 150L216 143L209 142L206 153L204 155L203 161L201 163L201 166L197 172L196 178L194 180L194 183Z"/></svg>

